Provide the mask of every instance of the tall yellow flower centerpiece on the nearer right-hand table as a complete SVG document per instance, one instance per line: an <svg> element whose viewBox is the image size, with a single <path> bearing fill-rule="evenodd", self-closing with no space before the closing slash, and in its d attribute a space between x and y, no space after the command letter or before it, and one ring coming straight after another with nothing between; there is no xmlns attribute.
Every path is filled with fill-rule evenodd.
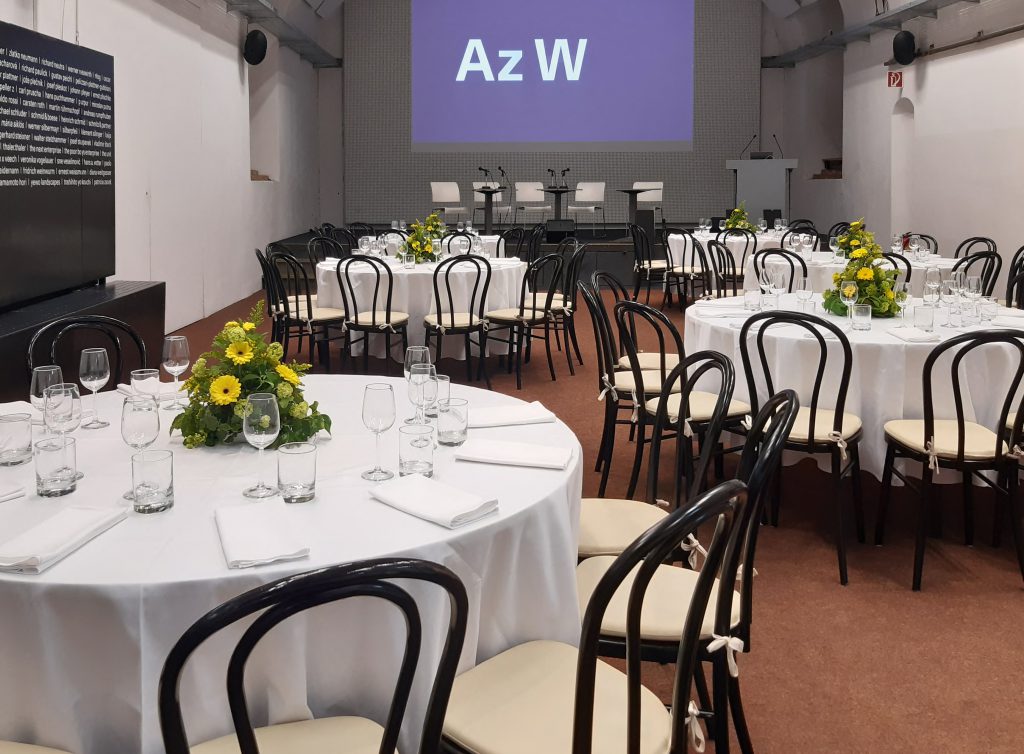
<svg viewBox="0 0 1024 754"><path fill-rule="evenodd" d="M847 298L856 294L857 303L870 304L872 317L898 315L906 293L896 291L896 270L879 264L882 247L874 242L874 235L864 229L864 221L851 222L850 229L838 241L849 262L846 269L833 276L835 288L824 292L825 310L845 317L847 305L842 294L846 292Z"/></svg>

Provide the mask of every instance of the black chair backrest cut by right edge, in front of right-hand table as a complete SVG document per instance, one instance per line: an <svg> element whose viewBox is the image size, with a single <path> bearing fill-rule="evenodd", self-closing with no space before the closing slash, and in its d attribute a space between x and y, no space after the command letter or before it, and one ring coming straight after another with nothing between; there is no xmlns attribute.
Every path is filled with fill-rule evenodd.
<svg viewBox="0 0 1024 754"><path fill-rule="evenodd" d="M1002 386L1006 385L1006 394L999 410L998 420L995 427L991 427L995 432L995 448L993 448L994 458L1001 458L1007 448L1013 449L1020 442L1022 433L1022 423L1024 423L1024 404L1018 405L1018 394L1021 387L1021 379L1024 377L1024 330L982 330L979 332L965 333L950 338L935 346L925 361L925 369L922 374L922 399L925 405L925 443L926 447L931 438L935 436L935 385L936 385L936 365L939 359L946 357L944 361L949 362L949 382L952 386L953 411L956 419L956 462L964 463L964 447L967 422L973 421L973 416L969 415L969 410L965 407L965 391L968 389L963 384L962 377L966 365L965 359L971 357L973 360L984 359L983 348L990 345L1001 345L1006 355L1000 354L999 364L1000 375L1005 375L998 384L989 381L985 384L985 389L989 394L1002 394ZM970 363L970 362L969 362ZM944 379L944 375L939 375ZM944 407L948 406L948 401L943 399ZM1015 408L1015 406L1017 408ZM947 412L948 413L948 409ZM945 418L945 417L940 417ZM1010 428L1008 428L1008 420Z"/></svg>

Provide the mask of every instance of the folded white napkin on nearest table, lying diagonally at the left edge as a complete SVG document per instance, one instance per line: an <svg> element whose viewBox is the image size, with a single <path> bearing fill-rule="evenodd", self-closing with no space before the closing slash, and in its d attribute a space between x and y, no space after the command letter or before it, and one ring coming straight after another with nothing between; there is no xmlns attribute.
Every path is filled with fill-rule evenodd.
<svg viewBox="0 0 1024 754"><path fill-rule="evenodd" d="M127 508L72 506L0 544L0 571L41 574L128 515Z"/></svg>

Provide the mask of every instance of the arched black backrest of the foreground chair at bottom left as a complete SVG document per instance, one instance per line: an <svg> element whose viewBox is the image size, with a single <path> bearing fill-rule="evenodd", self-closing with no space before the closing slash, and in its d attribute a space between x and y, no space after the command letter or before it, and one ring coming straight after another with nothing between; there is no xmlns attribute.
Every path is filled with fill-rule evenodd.
<svg viewBox="0 0 1024 754"><path fill-rule="evenodd" d="M718 498L716 498L716 501ZM193 653L207 639L245 623L227 666L227 700L242 754L259 754L245 693L246 664L263 637L279 624L313 608L349 597L372 598L397 609L406 626L406 646L394 695L384 724L381 752L393 752L406 715L424 641L423 621L409 583L438 587L447 597L450 619L444 625L444 644L433 675L426 717L421 728L421 752L440 748L441 723L459 656L466 637L469 599L459 577L434 562L416 559L380 559L332 566L299 576L288 576L229 599L194 623L171 648L160 675L160 727L167 754L188 754L179 699L181 674ZM431 589L431 591L433 591ZM396 616L397 617L397 616ZM252 620L255 618L255 620ZM241 632L242 627L239 628ZM432 655L428 651L427 656Z"/></svg>

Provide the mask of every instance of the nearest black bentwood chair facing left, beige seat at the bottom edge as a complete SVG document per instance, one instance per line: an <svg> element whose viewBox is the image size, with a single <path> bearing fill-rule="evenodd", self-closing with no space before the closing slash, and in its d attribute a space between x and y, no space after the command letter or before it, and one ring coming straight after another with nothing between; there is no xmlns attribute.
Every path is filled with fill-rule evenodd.
<svg viewBox="0 0 1024 754"><path fill-rule="evenodd" d="M684 754L703 745L690 701L697 669L700 626L746 505L742 483L728 481L651 528L607 569L587 604L580 647L528 641L501 653L456 678L444 718L442 750L455 754ZM641 683L639 626L647 586L669 553L701 525L714 528L708 566L694 585L676 637L671 710ZM630 591L630 647L622 672L598 659L601 624L620 587ZM172 754L176 754L172 752Z"/></svg>

